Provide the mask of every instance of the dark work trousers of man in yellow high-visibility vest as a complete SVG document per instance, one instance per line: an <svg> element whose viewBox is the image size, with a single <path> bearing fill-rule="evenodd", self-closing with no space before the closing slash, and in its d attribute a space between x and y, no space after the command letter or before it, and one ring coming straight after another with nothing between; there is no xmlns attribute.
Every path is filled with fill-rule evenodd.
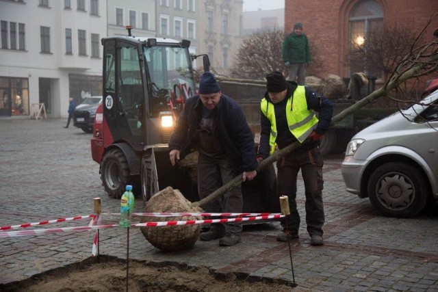
<svg viewBox="0 0 438 292"><path fill-rule="evenodd" d="M307 152L288 154L277 162L278 194L289 197L290 215L281 220L281 226L298 235L300 215L296 209L296 180L301 170L305 185L306 223L309 235L322 236L324 225L324 206L322 204L322 165L324 161L318 147Z"/></svg>

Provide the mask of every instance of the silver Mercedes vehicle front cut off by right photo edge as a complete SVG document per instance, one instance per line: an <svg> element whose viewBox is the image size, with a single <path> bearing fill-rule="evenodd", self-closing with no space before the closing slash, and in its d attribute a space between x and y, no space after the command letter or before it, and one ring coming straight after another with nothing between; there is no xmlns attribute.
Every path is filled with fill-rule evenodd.
<svg viewBox="0 0 438 292"><path fill-rule="evenodd" d="M435 81L438 88L438 80ZM346 190L391 217L438 202L438 90L357 133L342 162ZM428 88L430 91L430 86Z"/></svg>

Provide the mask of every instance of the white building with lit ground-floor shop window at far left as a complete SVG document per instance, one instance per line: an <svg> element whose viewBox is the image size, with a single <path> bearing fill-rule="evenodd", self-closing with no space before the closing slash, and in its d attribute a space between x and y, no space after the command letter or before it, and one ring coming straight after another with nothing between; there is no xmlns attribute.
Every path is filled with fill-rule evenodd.
<svg viewBox="0 0 438 292"><path fill-rule="evenodd" d="M100 94L105 1L0 0L0 25L0 116L66 117L70 96Z"/></svg>

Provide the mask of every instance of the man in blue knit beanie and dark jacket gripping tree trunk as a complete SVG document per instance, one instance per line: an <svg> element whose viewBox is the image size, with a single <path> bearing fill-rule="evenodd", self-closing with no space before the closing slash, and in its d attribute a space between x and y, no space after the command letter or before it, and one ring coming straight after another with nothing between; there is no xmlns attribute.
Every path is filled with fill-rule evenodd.
<svg viewBox="0 0 438 292"><path fill-rule="evenodd" d="M199 94L188 98L169 141L170 162L175 165L192 149L198 156L198 193L207 197L243 172L243 181L257 175L253 133L246 123L240 105L220 92L211 72L205 72L199 82ZM227 191L210 204L209 213L241 213L242 189ZM241 224L211 224L201 233L201 240L220 239L219 245L231 246L240 242Z"/></svg>

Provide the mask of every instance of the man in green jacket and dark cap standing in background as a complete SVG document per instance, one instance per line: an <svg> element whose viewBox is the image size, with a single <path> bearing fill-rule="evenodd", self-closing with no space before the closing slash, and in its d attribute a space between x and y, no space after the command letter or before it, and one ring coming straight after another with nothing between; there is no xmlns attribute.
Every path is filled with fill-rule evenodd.
<svg viewBox="0 0 438 292"><path fill-rule="evenodd" d="M302 32L301 23L295 23L294 31L283 40L283 62L289 70L289 81L305 85L306 67L311 62L311 56L309 40Z"/></svg>

